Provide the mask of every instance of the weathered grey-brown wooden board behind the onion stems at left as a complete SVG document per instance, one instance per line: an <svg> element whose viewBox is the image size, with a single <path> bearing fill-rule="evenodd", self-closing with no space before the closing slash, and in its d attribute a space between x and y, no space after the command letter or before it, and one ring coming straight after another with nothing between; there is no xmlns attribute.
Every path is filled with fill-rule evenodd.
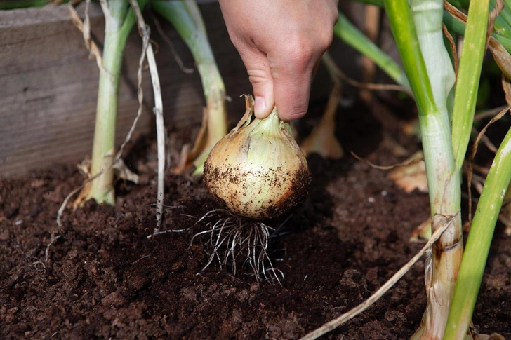
<svg viewBox="0 0 511 340"><path fill-rule="evenodd" d="M211 45L227 86L236 98L250 84L230 43L218 4L201 4ZM83 6L79 13L83 13ZM104 32L102 12L91 4L91 27L99 43ZM150 17L150 16L149 16ZM151 19L147 19L151 24ZM160 19L187 67L193 58L173 27ZM155 30L154 30L155 31ZM166 125L201 121L204 96L197 72L186 74L157 32L157 64L164 97ZM119 93L117 143L135 117L136 72L141 40L133 32L124 55ZM55 163L79 162L91 152L98 91L98 67L88 59L81 33L69 20L66 5L0 11L0 176L15 177ZM138 131L154 129L150 74L144 76L145 111ZM243 110L234 100L230 111Z"/></svg>

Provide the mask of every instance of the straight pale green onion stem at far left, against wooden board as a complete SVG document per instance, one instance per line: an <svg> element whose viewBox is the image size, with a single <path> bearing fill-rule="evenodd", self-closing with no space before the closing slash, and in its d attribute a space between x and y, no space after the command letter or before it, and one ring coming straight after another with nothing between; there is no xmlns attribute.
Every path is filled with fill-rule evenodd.
<svg viewBox="0 0 511 340"><path fill-rule="evenodd" d="M102 67L100 67L91 175L95 176L98 172L104 172L91 182L87 196L87 199L94 199L97 203L111 205L115 203L112 161L115 154L119 76L126 39L131 30L131 28L123 29L127 13L127 0L108 1L108 10L105 13L105 48L102 53Z"/></svg>

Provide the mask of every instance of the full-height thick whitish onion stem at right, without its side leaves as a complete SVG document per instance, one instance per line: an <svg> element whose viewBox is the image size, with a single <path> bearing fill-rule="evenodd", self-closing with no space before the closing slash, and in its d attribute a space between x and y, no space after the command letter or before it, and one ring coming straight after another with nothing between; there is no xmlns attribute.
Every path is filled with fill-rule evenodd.
<svg viewBox="0 0 511 340"><path fill-rule="evenodd" d="M444 45L442 0L412 0L410 3L427 74L432 83L437 111L420 115L420 130L430 191L432 232L450 224L432 250L426 270L427 306L420 339L442 339L463 255L460 219L460 178L451 146L450 104L456 80Z"/></svg>

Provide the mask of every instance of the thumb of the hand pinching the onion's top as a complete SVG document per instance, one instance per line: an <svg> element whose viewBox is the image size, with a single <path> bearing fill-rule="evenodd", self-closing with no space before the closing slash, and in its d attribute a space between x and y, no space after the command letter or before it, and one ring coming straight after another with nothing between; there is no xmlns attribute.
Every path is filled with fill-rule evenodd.
<svg viewBox="0 0 511 340"><path fill-rule="evenodd" d="M270 63L265 53L259 50L250 55L241 55L241 59L243 59L248 72L248 79L253 88L255 117L259 119L266 118L270 116L275 106Z"/></svg>

